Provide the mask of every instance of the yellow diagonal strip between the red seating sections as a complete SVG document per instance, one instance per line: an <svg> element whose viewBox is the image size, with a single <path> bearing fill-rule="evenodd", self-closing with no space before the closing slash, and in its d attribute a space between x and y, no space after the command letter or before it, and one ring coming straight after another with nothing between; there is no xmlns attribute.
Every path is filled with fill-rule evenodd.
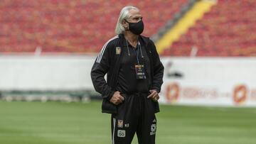
<svg viewBox="0 0 256 144"><path fill-rule="evenodd" d="M188 28L195 25L198 19L203 18L203 14L210 11L210 7L215 5L216 1L198 1L193 5L183 18L176 25L167 31L157 42L156 48L159 54L164 52L164 49L170 48L174 41L178 40L183 33L188 31Z"/></svg>

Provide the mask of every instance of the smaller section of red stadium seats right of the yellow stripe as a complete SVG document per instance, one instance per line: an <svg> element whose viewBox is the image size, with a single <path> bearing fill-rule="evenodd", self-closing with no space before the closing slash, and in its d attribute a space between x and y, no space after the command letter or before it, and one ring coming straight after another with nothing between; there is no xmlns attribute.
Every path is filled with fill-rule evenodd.
<svg viewBox="0 0 256 144"><path fill-rule="evenodd" d="M210 12L162 55L255 56L256 1L219 0Z"/></svg>

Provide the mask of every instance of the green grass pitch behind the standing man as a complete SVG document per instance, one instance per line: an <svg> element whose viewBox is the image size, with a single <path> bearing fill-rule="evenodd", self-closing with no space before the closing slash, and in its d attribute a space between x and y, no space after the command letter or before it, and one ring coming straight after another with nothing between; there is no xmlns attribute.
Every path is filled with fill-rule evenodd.
<svg viewBox="0 0 256 144"><path fill-rule="evenodd" d="M111 143L110 115L100 106L100 101L0 101L0 143ZM161 105L156 115L158 144L256 143L255 108Z"/></svg>

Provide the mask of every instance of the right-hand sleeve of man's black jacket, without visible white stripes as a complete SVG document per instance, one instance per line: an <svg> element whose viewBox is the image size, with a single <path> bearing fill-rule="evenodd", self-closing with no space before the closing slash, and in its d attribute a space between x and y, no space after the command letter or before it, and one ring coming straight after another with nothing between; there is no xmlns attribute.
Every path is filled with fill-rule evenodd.
<svg viewBox="0 0 256 144"><path fill-rule="evenodd" d="M153 59L153 84L151 89L156 89L157 92L161 91L161 85L163 84L164 65L161 63L159 54L156 51L156 46L151 41L152 45L152 59Z"/></svg>

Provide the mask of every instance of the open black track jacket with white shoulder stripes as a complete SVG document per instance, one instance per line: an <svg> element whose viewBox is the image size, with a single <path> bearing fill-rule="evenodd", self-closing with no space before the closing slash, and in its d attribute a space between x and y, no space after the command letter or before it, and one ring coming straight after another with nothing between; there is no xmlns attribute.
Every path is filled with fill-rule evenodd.
<svg viewBox="0 0 256 144"><path fill-rule="evenodd" d="M142 35L139 35L145 45L146 54L150 61L151 70L151 89L156 89L157 92L161 90L161 84L163 84L164 66L159 60L159 55L156 52L156 46L153 41ZM122 58L122 48L126 48L124 45L125 38L123 34L119 34L110 39L103 45L100 54L97 56L94 65L91 70L91 78L95 90L102 94L102 113L117 113L117 106L110 102L112 95L114 94L115 87L117 86L117 75L120 67L120 59ZM118 49L121 49L119 52ZM105 74L107 74L107 82L105 80ZM159 104L155 103L155 113L159 112Z"/></svg>

